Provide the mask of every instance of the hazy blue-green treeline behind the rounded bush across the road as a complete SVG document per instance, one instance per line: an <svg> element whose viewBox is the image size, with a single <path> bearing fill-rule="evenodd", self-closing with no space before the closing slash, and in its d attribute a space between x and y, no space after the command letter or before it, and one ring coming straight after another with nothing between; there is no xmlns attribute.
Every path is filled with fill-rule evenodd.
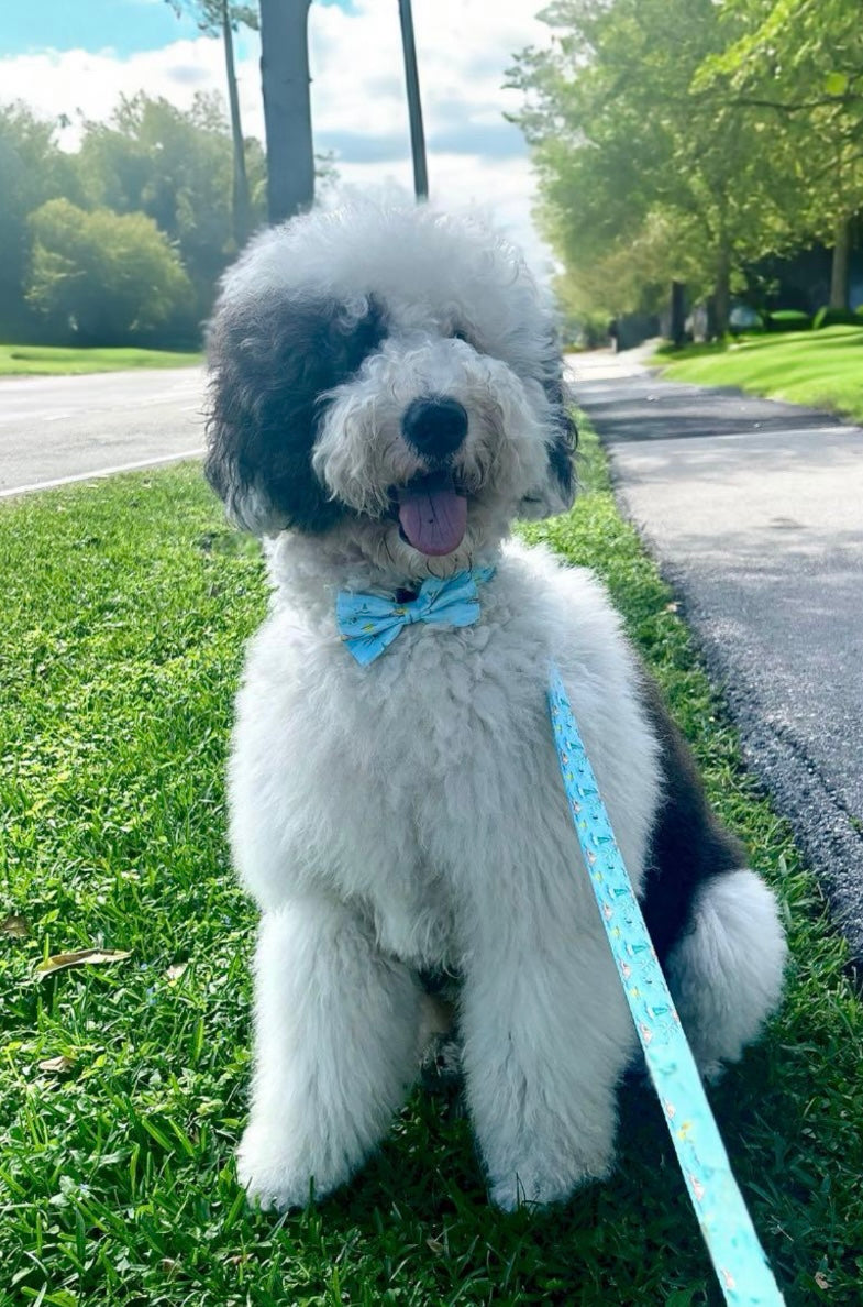
<svg viewBox="0 0 863 1307"><path fill-rule="evenodd" d="M123 99L107 123L84 124L77 152L59 148L57 125L24 105L0 107L0 333L47 340L57 331L60 319L37 314L25 290L34 259L29 218L47 200L64 197L80 209L146 214L155 223L188 278L183 320L166 320L165 342L195 344L218 278L238 251L231 133L219 97L198 95L185 112L144 94ZM245 142L245 159L249 221L259 226L266 213L259 141Z"/></svg>

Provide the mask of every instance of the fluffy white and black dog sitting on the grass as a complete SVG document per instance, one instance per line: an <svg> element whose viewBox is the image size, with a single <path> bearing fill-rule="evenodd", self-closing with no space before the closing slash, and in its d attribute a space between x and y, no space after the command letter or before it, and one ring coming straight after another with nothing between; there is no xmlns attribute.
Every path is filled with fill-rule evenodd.
<svg viewBox="0 0 863 1307"><path fill-rule="evenodd" d="M261 910L240 1180L283 1209L350 1179L445 974L492 1201L567 1199L612 1165L635 1033L563 793L552 660L702 1068L759 1034L785 941L602 587L508 540L573 495L551 314L471 220L347 208L252 243L209 361L206 474L266 537L274 587L230 762ZM449 578L467 625L407 617L358 661L345 595L413 614Z"/></svg>

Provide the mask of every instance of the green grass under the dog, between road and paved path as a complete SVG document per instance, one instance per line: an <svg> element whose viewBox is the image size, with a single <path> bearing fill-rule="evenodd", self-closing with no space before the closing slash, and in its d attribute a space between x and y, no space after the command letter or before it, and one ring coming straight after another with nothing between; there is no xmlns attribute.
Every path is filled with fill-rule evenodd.
<svg viewBox="0 0 863 1307"><path fill-rule="evenodd" d="M863 1017L843 946L588 450L576 510L529 536L606 578L782 894L787 1001L712 1098L789 1304L851 1307ZM247 1210L232 1155L253 912L227 868L222 769L265 604L257 552L179 467L8 505L0 559L0 921L29 923L0 933L0 1304L717 1304L646 1090L624 1094L615 1176L563 1210L491 1210L467 1124L422 1093L337 1197ZM44 955L94 944L133 953L35 979ZM40 1069L57 1056L65 1070Z"/></svg>

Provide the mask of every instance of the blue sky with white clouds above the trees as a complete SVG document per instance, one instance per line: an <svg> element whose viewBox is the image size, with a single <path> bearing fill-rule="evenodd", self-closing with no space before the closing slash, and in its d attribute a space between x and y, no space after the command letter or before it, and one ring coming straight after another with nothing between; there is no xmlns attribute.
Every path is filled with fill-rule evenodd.
<svg viewBox="0 0 863 1307"><path fill-rule="evenodd" d="M546 44L542 0L414 0L431 200L478 205L544 277L550 255L531 221L535 183L524 139L504 112L512 56ZM0 0L0 102L24 99L46 118L107 119L121 94L146 90L188 107L198 90L225 94L221 43L178 18L166 0ZM257 35L238 38L243 131L264 137ZM333 150L349 187L401 187L413 171L397 0L313 0L309 10L316 150Z"/></svg>

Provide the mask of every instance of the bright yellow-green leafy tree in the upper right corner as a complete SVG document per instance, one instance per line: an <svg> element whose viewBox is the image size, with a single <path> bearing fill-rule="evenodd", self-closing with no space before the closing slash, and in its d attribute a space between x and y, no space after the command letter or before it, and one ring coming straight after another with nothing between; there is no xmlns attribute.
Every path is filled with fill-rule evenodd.
<svg viewBox="0 0 863 1307"><path fill-rule="evenodd" d="M849 308L851 230L863 210L863 9L859 0L727 0L743 34L696 89L725 84L756 111L796 176L802 237L833 246L830 307Z"/></svg>

